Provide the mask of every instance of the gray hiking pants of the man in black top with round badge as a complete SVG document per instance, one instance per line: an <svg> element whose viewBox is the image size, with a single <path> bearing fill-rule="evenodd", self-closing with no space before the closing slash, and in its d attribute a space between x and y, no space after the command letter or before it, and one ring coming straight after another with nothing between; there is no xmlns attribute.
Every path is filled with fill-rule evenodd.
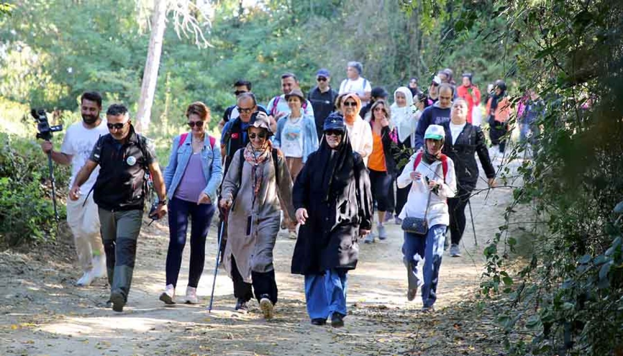
<svg viewBox="0 0 623 356"><path fill-rule="evenodd" d="M121 293L127 301L143 210L108 211L100 208L99 214L110 292Z"/></svg>

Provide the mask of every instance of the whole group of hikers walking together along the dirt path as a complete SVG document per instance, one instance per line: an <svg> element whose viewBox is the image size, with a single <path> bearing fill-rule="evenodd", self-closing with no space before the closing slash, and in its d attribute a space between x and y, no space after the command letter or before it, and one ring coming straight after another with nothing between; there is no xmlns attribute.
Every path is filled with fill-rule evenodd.
<svg viewBox="0 0 623 356"><path fill-rule="evenodd" d="M407 299L420 289L422 310L432 310L448 228L450 256L460 256L465 206L478 180L475 153L488 185L495 184L485 135L474 122L482 115L480 91L471 74L457 85L445 69L426 94L412 78L394 91L390 105L388 92L372 88L362 72L359 62L349 62L336 91L330 72L320 69L307 95L294 74L283 74L283 94L265 107L257 103L252 84L238 80L236 103L218 123L220 140L207 132L210 109L191 103L185 115L189 132L173 138L164 171L125 105L113 103L102 118L101 95L83 93L82 122L67 129L60 151L42 143L54 161L72 165L67 221L83 270L77 285L107 276L107 303L123 311L149 176L157 195L149 215L168 214L166 282L159 296L166 304L176 302L189 221L184 301L199 302L206 237L217 213L219 254L233 282L237 312L248 312L255 297L264 317L273 316L278 297L273 249L280 229L288 229L288 237L296 239L291 272L305 277L312 324L330 319L333 327L342 326L358 242L388 238L390 218L404 230ZM486 111L492 142L501 152L510 111L505 92L498 81Z"/></svg>

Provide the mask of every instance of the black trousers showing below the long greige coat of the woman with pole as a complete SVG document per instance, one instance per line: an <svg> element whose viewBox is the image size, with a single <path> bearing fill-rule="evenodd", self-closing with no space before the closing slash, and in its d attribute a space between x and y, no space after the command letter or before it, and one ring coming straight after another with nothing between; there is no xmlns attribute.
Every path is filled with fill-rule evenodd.
<svg viewBox="0 0 623 356"><path fill-rule="evenodd" d="M277 304L277 282L275 281L274 269L268 272L251 271L253 283L247 283L240 276L234 255L232 255L232 279L234 280L234 297L237 299L248 302L255 294L255 299L259 302L262 296L266 295L273 305Z"/></svg>

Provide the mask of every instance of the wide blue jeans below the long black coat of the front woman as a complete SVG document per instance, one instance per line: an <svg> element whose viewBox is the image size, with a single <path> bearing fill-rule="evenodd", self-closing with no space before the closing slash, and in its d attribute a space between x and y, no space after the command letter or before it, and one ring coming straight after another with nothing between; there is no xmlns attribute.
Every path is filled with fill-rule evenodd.
<svg viewBox="0 0 623 356"><path fill-rule="evenodd" d="M325 275L305 275L305 301L310 319L326 319L333 313L346 315L346 269L328 269Z"/></svg>

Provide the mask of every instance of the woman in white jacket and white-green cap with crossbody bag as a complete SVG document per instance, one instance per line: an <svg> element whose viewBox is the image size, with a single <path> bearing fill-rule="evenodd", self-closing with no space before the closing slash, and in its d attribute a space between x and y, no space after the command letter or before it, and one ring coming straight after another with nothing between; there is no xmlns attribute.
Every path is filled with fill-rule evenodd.
<svg viewBox="0 0 623 356"><path fill-rule="evenodd" d="M399 218L424 218L428 226L426 236L405 231L402 244L409 282L407 299L412 301L422 287L422 311L432 310L437 300L445 231L450 223L446 200L457 190L454 162L441 153L444 138L443 127L430 125L424 134L426 150L412 155L397 179L398 188L412 183Z"/></svg>

